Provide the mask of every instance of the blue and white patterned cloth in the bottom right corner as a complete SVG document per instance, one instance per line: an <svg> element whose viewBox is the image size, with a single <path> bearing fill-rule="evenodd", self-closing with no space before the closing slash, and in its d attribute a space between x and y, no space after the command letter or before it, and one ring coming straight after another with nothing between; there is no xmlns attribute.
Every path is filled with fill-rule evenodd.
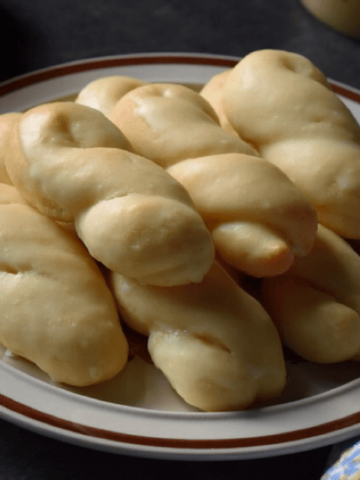
<svg viewBox="0 0 360 480"><path fill-rule="evenodd" d="M360 480L360 439L335 445L321 480Z"/></svg>

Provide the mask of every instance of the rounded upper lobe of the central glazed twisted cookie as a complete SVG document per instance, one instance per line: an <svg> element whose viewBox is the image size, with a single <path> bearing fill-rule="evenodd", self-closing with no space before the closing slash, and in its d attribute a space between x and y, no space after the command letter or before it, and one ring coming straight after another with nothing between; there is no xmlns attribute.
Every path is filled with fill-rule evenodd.
<svg viewBox="0 0 360 480"><path fill-rule="evenodd" d="M257 155L220 127L203 97L182 85L155 83L136 88L119 100L110 118L136 153L162 167L218 153Z"/></svg>

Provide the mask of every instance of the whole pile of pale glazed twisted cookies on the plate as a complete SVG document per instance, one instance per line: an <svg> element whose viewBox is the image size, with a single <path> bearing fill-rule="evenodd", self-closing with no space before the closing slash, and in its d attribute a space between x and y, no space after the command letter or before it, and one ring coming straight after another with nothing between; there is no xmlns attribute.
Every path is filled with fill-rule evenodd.
<svg viewBox="0 0 360 480"><path fill-rule="evenodd" d="M281 395L283 345L360 359L360 128L300 55L2 115L0 182L0 342L57 382L121 372L124 323L205 411Z"/></svg>

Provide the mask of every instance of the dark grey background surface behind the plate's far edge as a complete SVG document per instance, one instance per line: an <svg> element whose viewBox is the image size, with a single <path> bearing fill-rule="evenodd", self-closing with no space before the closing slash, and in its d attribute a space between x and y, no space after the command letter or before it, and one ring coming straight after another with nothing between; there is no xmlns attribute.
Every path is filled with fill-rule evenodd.
<svg viewBox="0 0 360 480"><path fill-rule="evenodd" d="M320 24L298 0L0 0L0 45L0 81L103 55L277 48L360 88L359 42Z"/></svg>

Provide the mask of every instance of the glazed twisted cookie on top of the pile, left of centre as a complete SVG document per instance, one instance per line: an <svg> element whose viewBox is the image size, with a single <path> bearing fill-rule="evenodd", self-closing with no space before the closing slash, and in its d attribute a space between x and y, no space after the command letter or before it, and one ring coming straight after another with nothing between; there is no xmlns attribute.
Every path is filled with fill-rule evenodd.
<svg viewBox="0 0 360 480"><path fill-rule="evenodd" d="M7 169L30 204L74 220L109 269L155 285L200 281L214 256L203 220L184 187L127 148L101 112L53 103L22 116Z"/></svg>

